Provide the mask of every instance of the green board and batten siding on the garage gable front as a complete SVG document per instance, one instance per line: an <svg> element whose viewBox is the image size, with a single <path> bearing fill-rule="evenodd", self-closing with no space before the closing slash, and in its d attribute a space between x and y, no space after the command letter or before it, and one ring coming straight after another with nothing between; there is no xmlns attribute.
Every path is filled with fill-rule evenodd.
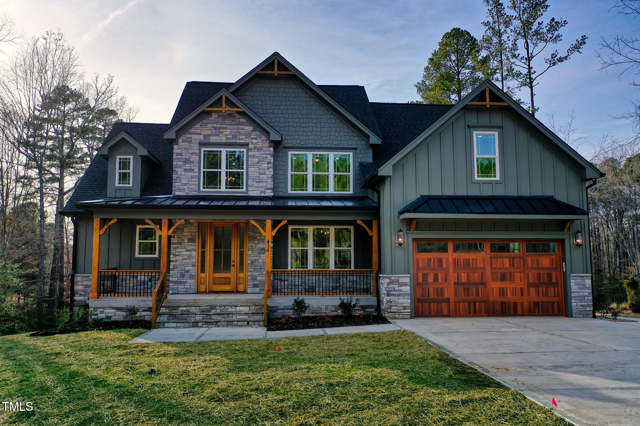
<svg viewBox="0 0 640 426"><path fill-rule="evenodd" d="M499 132L500 181L474 182L474 130ZM587 220L576 220L569 232L563 232L564 223L561 221L529 220L526 216L522 220L495 222L419 220L414 232L407 232L410 229L408 221L399 220L399 209L419 195L431 194L552 195L587 209L582 165L515 111L502 107L463 107L425 141L400 158L392 170L392 176L388 176L380 186L382 273L411 273L412 238L469 238L469 235L475 238L509 238L509 233L513 233L512 238L566 238L579 229L584 235L584 245L564 244L568 254L567 273L591 272ZM406 244L402 247L396 244L398 229L406 232Z"/></svg>

